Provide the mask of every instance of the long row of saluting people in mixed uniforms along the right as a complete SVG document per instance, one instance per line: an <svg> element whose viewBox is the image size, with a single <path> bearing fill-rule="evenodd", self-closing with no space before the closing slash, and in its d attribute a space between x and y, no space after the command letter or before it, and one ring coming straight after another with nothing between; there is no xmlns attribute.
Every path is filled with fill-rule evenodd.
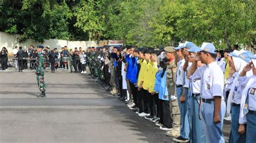
<svg viewBox="0 0 256 143"><path fill-rule="evenodd" d="M225 142L232 113L229 142L256 142L256 56L238 48L103 46L89 48L87 62L106 91L174 141Z"/></svg>

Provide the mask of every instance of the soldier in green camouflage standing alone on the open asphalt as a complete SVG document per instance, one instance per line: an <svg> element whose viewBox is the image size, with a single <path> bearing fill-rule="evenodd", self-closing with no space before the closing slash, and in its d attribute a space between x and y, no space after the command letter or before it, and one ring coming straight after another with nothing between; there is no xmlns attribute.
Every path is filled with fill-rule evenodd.
<svg viewBox="0 0 256 143"><path fill-rule="evenodd" d="M43 50L44 46L38 45L37 52L38 52L38 67L36 69L36 77L37 77L37 85L39 90L41 91L40 95L37 97L46 97L45 95L45 83L44 83L44 55Z"/></svg>

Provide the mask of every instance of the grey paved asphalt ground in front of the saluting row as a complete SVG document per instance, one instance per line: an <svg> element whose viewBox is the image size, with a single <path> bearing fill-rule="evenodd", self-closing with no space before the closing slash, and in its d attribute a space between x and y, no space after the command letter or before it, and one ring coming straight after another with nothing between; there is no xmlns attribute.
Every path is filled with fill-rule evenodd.
<svg viewBox="0 0 256 143"><path fill-rule="evenodd" d="M87 74L0 72L0 142L172 142ZM229 123L224 125L228 139Z"/></svg>

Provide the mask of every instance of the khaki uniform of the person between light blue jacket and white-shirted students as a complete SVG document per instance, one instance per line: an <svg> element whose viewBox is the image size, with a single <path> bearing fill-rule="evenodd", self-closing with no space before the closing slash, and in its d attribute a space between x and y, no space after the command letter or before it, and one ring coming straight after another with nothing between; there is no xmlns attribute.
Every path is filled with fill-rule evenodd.
<svg viewBox="0 0 256 143"><path fill-rule="evenodd" d="M176 70L177 66L175 65L175 61L172 60L166 67L166 86L169 92L169 95L176 95ZM170 110L171 110L171 118L173 120L173 127L179 128L180 127L180 111L178 105L178 98L175 101L170 101Z"/></svg>

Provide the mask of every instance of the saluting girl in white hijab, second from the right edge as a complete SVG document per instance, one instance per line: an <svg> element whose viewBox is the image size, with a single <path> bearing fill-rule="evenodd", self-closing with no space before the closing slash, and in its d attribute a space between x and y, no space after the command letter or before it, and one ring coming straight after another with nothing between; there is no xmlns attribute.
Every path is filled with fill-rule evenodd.
<svg viewBox="0 0 256 143"><path fill-rule="evenodd" d="M245 85L239 84L238 75L246 66L246 61L242 60L239 55L245 52L246 51L244 49L241 49L240 51L235 50L228 54L232 57L230 60L229 74L226 80L226 84L231 84L231 90L227 100L227 116L229 116L232 111L229 142L245 142L245 134L239 134L238 132L239 126L244 126L244 124L239 125L239 113L241 92L245 88ZM247 74L252 75L252 72L248 72Z"/></svg>

